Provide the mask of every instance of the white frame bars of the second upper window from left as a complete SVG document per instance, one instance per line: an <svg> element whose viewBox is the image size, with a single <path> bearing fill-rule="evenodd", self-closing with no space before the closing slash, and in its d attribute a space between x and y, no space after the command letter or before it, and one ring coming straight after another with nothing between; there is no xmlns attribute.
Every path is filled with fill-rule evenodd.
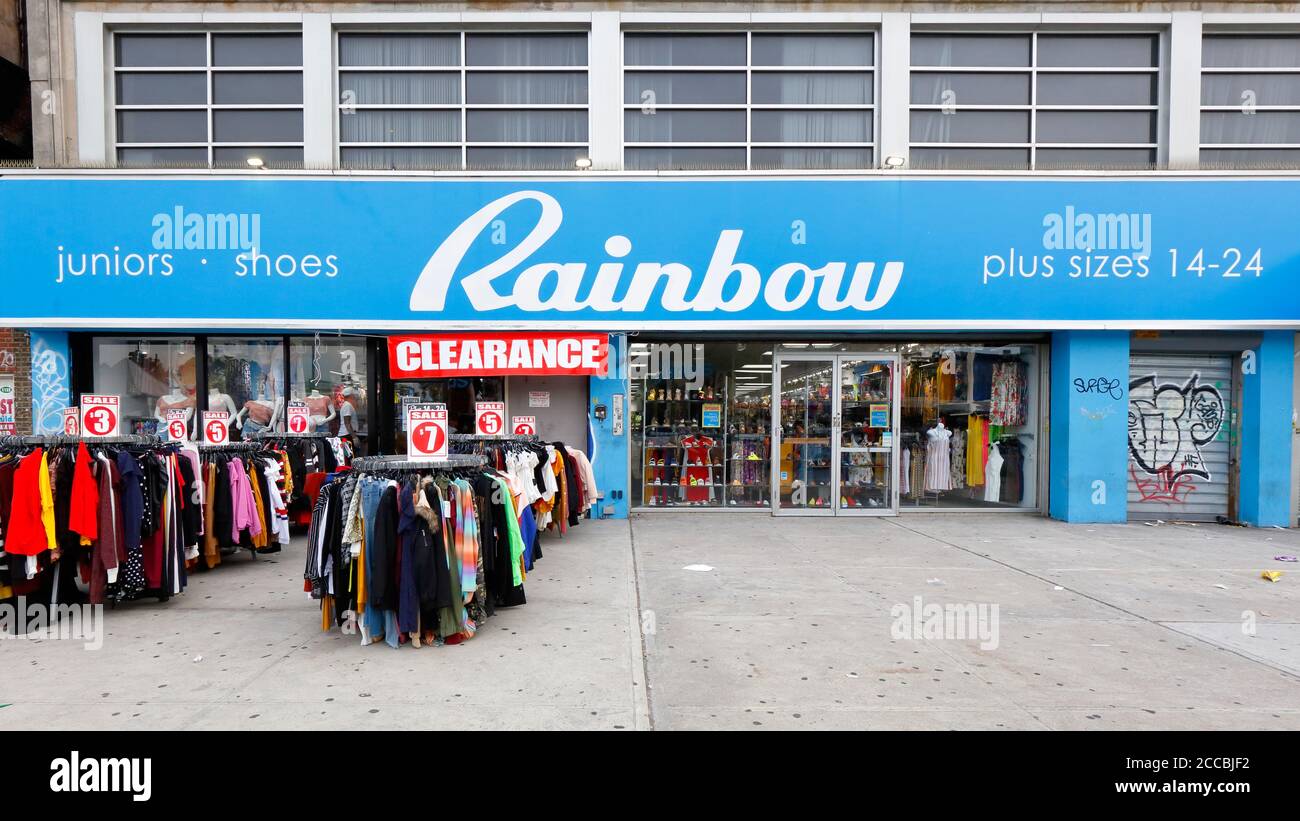
<svg viewBox="0 0 1300 821"><path fill-rule="evenodd" d="M376 34L376 35L410 35L410 34L441 34L441 35L459 35L459 48L460 48L460 65L459 66L355 66L342 65L341 56L342 49L339 45L339 39L350 34ZM471 34L507 34L507 35L542 35L542 34L581 34L586 38L586 62L584 65L564 65L564 66L517 66L517 65L503 65L503 66L472 66L468 61L468 53L465 52L467 35ZM396 27L396 26L335 26L333 31L333 45L334 45L334 105L330 108L333 127L334 127L334 165L335 168L343 168L343 149L346 148L459 148L460 149L460 169L456 170L471 170L469 169L469 149L471 148L580 148L585 149L581 156L590 157L592 153L592 134L594 131L594 123L592 122L592 31L586 26L566 26L566 27L503 27L503 26L488 26L488 27L439 27L439 26L413 26L413 27ZM343 103L339 96L343 90L341 86L341 78L344 73L400 73L400 71L415 71L415 73L443 73L443 74L456 74L460 75L460 103L417 103L417 104L384 104L384 103L370 103L370 104L356 104L356 103ZM468 91L468 75L472 73L485 73L485 71L504 71L504 73L559 73L559 74L586 74L586 103L572 104L572 103L534 103L534 104L516 104L516 103L473 103L471 104L467 99ZM429 142L429 143L386 143L386 142L359 142L359 143L344 143L342 135L342 117L344 116L344 109L356 110L460 110L460 140L459 142ZM469 140L468 126L469 126L469 112L471 110L567 110L576 112L582 110L586 113L586 142L582 143L506 143L506 142L481 142ZM404 169L407 170L407 169ZM507 169L500 169L507 170ZM533 170L533 169L515 169L520 171ZM567 170L567 169L556 169Z"/></svg>

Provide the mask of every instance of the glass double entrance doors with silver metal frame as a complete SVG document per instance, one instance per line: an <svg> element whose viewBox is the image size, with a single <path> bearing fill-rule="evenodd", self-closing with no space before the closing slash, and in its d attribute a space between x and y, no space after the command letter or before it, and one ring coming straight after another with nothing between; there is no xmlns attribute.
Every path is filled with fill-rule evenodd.
<svg viewBox="0 0 1300 821"><path fill-rule="evenodd" d="M898 355L780 352L775 359L772 512L897 514Z"/></svg>

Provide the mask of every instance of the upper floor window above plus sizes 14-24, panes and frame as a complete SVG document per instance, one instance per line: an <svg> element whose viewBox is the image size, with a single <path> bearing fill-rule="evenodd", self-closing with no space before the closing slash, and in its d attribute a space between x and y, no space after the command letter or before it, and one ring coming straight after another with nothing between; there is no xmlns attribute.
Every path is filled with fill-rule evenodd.
<svg viewBox="0 0 1300 821"><path fill-rule="evenodd" d="M1154 34L913 34L913 168L1150 168Z"/></svg>

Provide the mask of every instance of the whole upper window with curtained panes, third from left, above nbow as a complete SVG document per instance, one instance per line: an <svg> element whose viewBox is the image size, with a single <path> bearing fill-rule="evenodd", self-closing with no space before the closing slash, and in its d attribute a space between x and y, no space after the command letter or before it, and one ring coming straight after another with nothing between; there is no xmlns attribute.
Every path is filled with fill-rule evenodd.
<svg viewBox="0 0 1300 821"><path fill-rule="evenodd" d="M874 165L871 32L627 32L624 166Z"/></svg>

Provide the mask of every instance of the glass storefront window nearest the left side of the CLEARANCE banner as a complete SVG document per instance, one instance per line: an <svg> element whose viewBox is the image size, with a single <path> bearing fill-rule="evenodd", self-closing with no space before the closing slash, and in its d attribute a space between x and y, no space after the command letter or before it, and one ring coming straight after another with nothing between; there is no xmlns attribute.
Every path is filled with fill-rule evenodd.
<svg viewBox="0 0 1300 821"><path fill-rule="evenodd" d="M318 433L351 436L360 453L369 435L365 343L289 340L289 398L307 403Z"/></svg>

